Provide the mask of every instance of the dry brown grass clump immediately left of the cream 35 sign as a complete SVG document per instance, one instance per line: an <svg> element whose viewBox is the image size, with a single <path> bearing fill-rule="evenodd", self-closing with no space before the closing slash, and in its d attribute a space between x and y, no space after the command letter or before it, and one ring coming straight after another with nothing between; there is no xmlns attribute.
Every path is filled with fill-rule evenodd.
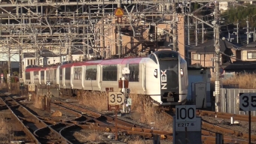
<svg viewBox="0 0 256 144"><path fill-rule="evenodd" d="M104 92L85 92L80 94L80 103L98 111L108 110L108 94Z"/></svg>

